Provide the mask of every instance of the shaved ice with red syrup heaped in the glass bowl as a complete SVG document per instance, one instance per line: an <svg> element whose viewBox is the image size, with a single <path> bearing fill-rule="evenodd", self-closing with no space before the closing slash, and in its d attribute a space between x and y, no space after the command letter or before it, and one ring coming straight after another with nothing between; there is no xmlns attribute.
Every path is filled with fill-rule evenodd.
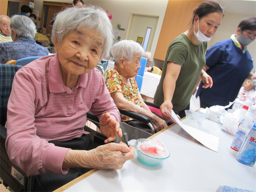
<svg viewBox="0 0 256 192"><path fill-rule="evenodd" d="M169 156L169 152L164 144L157 139L149 139L143 143L139 142L137 148L140 150L140 152L150 157L162 159Z"/></svg>

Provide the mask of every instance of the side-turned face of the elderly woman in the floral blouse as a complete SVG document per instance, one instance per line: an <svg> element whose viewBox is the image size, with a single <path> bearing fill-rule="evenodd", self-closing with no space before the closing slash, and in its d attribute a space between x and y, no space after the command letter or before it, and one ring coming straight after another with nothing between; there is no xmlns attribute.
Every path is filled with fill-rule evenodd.
<svg viewBox="0 0 256 192"><path fill-rule="evenodd" d="M138 75L138 69L140 68L140 60L142 55L141 54L135 54L133 56L132 61L125 62L124 64L124 70L128 74L128 76L135 77Z"/></svg>

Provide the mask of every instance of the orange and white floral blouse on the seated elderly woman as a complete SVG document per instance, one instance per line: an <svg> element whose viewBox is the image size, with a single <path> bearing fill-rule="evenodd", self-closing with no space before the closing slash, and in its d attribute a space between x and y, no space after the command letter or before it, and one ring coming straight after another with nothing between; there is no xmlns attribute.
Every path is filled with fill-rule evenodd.
<svg viewBox="0 0 256 192"><path fill-rule="evenodd" d="M135 78L129 79L132 86L128 87L115 69L108 69L104 74L104 79L110 93L121 92L126 100L142 107L142 102L138 98L139 89ZM121 120L130 121L132 118L121 115Z"/></svg>

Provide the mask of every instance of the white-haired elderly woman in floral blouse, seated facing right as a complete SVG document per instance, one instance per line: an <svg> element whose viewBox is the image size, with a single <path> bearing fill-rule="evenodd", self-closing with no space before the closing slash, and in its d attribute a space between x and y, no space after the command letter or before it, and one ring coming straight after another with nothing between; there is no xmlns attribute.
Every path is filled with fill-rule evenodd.
<svg viewBox="0 0 256 192"><path fill-rule="evenodd" d="M142 46L132 40L122 40L112 46L111 54L115 60L115 66L114 69L106 70L104 78L117 108L150 117L156 126L156 132L166 128L166 122L153 114L144 103L134 78L140 68L140 59L144 56ZM121 120L131 126L151 132L144 123L137 122L126 116L121 116Z"/></svg>

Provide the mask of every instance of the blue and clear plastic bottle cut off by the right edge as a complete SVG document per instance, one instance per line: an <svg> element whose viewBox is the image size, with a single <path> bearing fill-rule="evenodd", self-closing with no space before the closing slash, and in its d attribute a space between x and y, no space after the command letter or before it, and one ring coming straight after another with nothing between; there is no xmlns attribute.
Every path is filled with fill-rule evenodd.
<svg viewBox="0 0 256 192"><path fill-rule="evenodd" d="M244 141L237 160L245 165L254 166L256 161L256 124L252 127L248 137Z"/></svg>

